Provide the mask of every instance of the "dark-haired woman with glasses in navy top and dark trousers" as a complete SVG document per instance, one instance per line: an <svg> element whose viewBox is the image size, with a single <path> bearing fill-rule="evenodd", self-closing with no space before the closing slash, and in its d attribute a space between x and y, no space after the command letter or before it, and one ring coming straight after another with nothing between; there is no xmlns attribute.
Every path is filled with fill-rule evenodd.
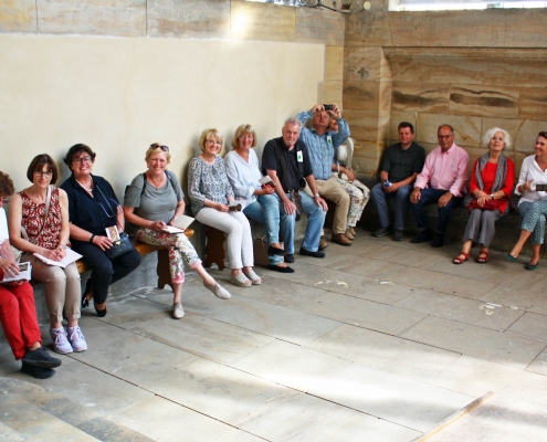
<svg viewBox="0 0 547 442"><path fill-rule="evenodd" d="M125 219L109 182L92 175L95 156L86 145L72 146L64 158L72 176L61 188L69 197L72 248L92 269L82 294L82 307L87 307L93 298L97 316L103 317L106 315L108 286L137 269L140 254L135 249L113 260L106 254L113 248L111 232L123 232Z"/></svg>

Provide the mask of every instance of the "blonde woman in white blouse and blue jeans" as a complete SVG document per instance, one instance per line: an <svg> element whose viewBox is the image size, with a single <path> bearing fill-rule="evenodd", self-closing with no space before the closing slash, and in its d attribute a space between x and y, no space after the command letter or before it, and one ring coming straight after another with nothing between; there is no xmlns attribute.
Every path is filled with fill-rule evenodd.
<svg viewBox="0 0 547 442"><path fill-rule="evenodd" d="M254 221L266 224L269 269L293 273L294 270L283 262L286 252L280 244L280 218L281 222L286 222L288 215L284 210L280 212L280 199L273 186L263 189L259 182L262 173L259 158L252 149L254 146L256 146L256 134L251 125L238 127L232 138L233 150L224 158L228 179L235 197L245 200L243 213Z"/></svg>

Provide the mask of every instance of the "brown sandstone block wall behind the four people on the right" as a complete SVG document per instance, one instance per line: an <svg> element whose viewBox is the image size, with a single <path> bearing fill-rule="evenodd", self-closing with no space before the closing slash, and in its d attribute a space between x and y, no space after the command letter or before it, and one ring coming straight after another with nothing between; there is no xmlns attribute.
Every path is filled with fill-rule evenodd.
<svg viewBox="0 0 547 442"><path fill-rule="evenodd" d="M346 22L344 105L355 161L376 173L397 126L409 120L428 150L436 127L454 126L472 161L481 138L505 128L517 172L547 129L545 9L353 14ZM388 110L387 110L388 109ZM348 112L349 110L349 112Z"/></svg>

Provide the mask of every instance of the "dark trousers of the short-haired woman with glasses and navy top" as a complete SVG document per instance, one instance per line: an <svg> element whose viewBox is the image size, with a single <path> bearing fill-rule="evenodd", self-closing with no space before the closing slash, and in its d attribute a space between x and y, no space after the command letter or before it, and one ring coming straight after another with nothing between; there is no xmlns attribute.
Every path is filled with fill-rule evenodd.
<svg viewBox="0 0 547 442"><path fill-rule="evenodd" d="M140 253L135 249L111 261L105 252L90 242L74 241L72 248L92 269L90 280L95 304L103 304L108 294L108 286L127 276L140 264Z"/></svg>

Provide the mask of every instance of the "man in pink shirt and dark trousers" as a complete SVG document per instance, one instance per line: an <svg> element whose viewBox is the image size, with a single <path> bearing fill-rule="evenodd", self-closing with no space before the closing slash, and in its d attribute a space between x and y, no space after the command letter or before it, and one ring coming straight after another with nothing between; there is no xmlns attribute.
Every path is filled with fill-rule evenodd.
<svg viewBox="0 0 547 442"><path fill-rule="evenodd" d="M439 147L425 158L423 169L415 178L414 190L410 193L412 211L420 233L410 242L432 241L432 248L440 248L454 207L463 200L467 181L470 156L454 144L454 129L448 124L436 130ZM439 221L435 233L429 228L425 206L439 206Z"/></svg>

